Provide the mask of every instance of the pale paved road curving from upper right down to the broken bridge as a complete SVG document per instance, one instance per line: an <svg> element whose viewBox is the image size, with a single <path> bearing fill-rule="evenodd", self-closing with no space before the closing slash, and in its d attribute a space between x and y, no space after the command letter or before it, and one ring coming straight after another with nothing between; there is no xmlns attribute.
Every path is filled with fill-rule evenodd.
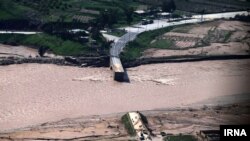
<svg viewBox="0 0 250 141"><path fill-rule="evenodd" d="M231 18L237 14L245 14L248 15L249 12L247 11L240 11L240 12L227 12L227 13L217 13L217 14L205 14L203 15L202 21L211 21L214 19L221 19L221 18ZM167 19L165 20L154 20L153 24L148 25L140 25L136 24L132 27L125 27L128 33L123 35L119 40L117 40L110 49L110 56L119 58L119 54L122 52L123 48L129 41L132 41L136 38L136 36L142 32L155 30L163 27L175 26L175 25L183 25L188 23L199 23L201 22L201 15L194 15L191 19L176 21L176 22L168 22ZM121 65L121 64L119 64Z"/></svg>

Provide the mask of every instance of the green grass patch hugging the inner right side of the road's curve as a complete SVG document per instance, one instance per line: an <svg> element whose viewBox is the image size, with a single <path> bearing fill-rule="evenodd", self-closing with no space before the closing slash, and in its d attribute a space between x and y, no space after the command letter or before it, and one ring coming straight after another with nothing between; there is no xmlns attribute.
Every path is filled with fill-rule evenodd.
<svg viewBox="0 0 250 141"><path fill-rule="evenodd" d="M123 61L133 61L141 57L143 51L145 51L146 49L169 48L172 45L172 42L170 41L158 40L152 44L151 41L156 39L156 37L171 31L172 29L173 27L167 27L141 33L134 41L128 43L128 45L125 48L125 51L121 54L121 59Z"/></svg>

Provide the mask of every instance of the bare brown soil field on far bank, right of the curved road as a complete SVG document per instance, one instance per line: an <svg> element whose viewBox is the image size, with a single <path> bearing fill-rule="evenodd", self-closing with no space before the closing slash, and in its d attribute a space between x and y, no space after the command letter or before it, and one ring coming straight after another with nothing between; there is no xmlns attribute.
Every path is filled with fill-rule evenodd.
<svg viewBox="0 0 250 141"><path fill-rule="evenodd" d="M249 55L249 27L249 23L223 20L180 27L161 37L175 42L171 49L148 49L143 57Z"/></svg>

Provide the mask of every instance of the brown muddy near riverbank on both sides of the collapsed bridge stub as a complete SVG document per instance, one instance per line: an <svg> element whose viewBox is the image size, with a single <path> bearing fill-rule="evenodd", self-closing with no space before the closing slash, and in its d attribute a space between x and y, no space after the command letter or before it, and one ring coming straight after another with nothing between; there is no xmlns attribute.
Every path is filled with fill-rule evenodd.
<svg viewBox="0 0 250 141"><path fill-rule="evenodd" d="M249 102L226 106L203 106L175 108L142 112L148 120L148 128L154 140L161 140L161 132L168 134L193 134L200 130L219 130L221 124L247 124L250 112ZM10 140L119 140L129 137L120 114L88 116L63 119L38 126L20 129L10 133L0 133L0 139Z"/></svg>

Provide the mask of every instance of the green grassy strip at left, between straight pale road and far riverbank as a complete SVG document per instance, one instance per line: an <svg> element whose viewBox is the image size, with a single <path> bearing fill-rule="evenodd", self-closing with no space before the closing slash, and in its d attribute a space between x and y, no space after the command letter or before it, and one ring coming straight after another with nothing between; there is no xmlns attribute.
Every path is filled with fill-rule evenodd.
<svg viewBox="0 0 250 141"><path fill-rule="evenodd" d="M39 49L48 48L58 55L81 55L89 54L93 51L86 45L48 34L19 35L19 34L0 34L0 43L12 45L27 45Z"/></svg>

